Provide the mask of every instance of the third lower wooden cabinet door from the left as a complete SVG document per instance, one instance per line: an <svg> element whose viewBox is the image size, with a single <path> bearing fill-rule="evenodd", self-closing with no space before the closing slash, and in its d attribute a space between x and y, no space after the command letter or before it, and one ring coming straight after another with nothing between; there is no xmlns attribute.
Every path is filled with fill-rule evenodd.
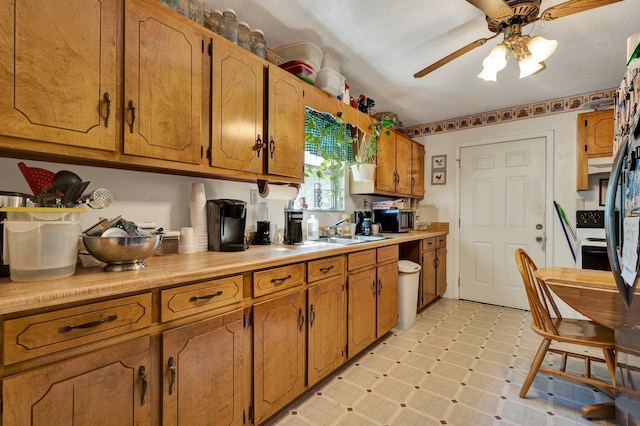
<svg viewBox="0 0 640 426"><path fill-rule="evenodd" d="M306 292L254 306L255 423L304 391L307 342Z"/></svg>

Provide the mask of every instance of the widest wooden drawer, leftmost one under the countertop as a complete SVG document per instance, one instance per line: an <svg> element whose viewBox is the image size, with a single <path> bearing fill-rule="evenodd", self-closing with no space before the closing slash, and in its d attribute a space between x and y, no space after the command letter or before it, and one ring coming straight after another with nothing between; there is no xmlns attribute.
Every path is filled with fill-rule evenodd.
<svg viewBox="0 0 640 426"><path fill-rule="evenodd" d="M75 308L7 320L4 362L13 364L151 324L151 294L123 297Z"/></svg>

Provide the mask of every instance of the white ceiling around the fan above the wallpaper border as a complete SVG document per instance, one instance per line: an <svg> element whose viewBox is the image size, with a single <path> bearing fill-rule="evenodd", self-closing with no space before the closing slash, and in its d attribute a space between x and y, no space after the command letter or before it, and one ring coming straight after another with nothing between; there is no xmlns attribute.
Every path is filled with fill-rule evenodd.
<svg viewBox="0 0 640 426"><path fill-rule="evenodd" d="M542 8L562 3L543 0ZM267 46L310 41L342 64L351 95L375 100L405 126L493 111L617 87L625 72L627 37L640 32L640 0L625 0L546 23L523 34L558 41L547 69L518 78L513 57L497 82L476 78L502 36L414 79L454 50L493 35L484 14L464 0L205 0L233 8L265 32Z"/></svg>

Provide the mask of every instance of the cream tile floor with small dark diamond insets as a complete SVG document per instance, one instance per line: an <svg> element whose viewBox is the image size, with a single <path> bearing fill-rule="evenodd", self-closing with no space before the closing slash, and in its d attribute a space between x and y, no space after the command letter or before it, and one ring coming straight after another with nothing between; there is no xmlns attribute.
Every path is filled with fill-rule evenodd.
<svg viewBox="0 0 640 426"><path fill-rule="evenodd" d="M557 377L538 374L527 398L518 396L540 343L530 322L528 311L441 299L267 424L615 424L580 415L584 404L610 401L606 394Z"/></svg>

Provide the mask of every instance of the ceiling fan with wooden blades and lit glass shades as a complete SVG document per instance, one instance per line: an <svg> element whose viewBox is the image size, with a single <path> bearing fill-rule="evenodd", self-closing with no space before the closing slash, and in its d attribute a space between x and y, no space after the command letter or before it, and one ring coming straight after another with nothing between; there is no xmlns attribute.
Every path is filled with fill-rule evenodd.
<svg viewBox="0 0 640 426"><path fill-rule="evenodd" d="M520 78L536 74L546 67L544 59L551 56L557 42L546 40L540 36L522 35L523 27L536 21L551 21L618 1L622 0L569 0L551 6L540 13L541 0L467 0L468 3L484 12L489 31L494 32L495 35L469 43L418 71L413 76L415 78L424 77L500 34L504 35L504 41L494 47L489 56L485 58L482 63L483 70L478 74L478 77L495 81L496 73L506 66L506 57L509 51L514 53L520 64Z"/></svg>

